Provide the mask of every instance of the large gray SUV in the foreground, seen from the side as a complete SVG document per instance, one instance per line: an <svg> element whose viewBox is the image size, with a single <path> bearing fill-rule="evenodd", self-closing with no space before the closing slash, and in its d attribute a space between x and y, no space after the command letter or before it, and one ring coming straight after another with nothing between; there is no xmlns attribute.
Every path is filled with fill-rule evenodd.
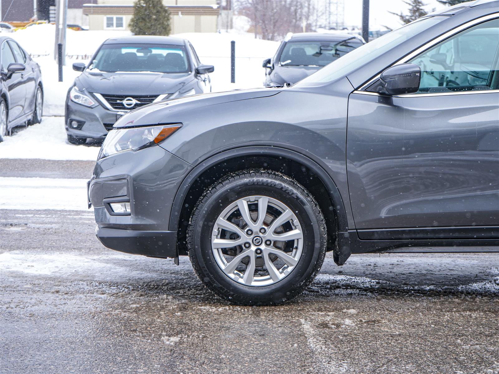
<svg viewBox="0 0 499 374"><path fill-rule="evenodd" d="M243 304L294 297L326 251L497 251L498 9L430 14L289 88L131 111L89 181L97 237L189 254Z"/></svg>

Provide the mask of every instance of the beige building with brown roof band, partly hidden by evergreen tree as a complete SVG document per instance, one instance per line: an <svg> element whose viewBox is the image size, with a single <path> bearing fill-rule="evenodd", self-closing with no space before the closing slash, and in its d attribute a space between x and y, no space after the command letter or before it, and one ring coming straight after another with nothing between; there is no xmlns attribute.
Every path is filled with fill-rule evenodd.
<svg viewBox="0 0 499 374"><path fill-rule="evenodd" d="M84 4L90 30L129 30L134 0L98 0ZM163 0L172 19L172 34L217 32L220 14L217 0Z"/></svg>

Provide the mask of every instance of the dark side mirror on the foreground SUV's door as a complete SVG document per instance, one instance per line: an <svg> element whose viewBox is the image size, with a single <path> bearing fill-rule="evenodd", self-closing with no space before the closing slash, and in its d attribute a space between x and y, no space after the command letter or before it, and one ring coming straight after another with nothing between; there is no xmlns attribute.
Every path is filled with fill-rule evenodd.
<svg viewBox="0 0 499 374"><path fill-rule="evenodd" d="M414 93L419 89L421 68L416 64L399 64L381 73L386 92L390 95Z"/></svg>

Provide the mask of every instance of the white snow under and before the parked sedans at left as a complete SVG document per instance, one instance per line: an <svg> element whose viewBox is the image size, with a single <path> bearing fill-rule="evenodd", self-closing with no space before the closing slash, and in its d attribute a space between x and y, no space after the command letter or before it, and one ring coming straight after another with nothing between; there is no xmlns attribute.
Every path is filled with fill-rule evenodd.
<svg viewBox="0 0 499 374"><path fill-rule="evenodd" d="M0 159L97 160L99 147L69 144L64 117L43 117L41 123L8 136L0 143Z"/></svg>

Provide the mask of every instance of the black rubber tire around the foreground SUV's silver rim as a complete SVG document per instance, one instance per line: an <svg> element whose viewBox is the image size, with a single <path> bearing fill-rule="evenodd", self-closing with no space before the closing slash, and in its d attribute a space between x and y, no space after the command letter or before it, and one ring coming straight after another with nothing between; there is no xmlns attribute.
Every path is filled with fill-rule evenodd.
<svg viewBox="0 0 499 374"><path fill-rule="evenodd" d="M221 212L253 195L275 198L295 213L303 233L301 256L283 279L266 286L236 282L217 264L211 233ZM200 280L214 293L241 305L275 305L301 293L318 274L326 251L324 216L312 195L296 181L275 172L242 171L222 179L200 198L188 230L189 257Z"/></svg>

